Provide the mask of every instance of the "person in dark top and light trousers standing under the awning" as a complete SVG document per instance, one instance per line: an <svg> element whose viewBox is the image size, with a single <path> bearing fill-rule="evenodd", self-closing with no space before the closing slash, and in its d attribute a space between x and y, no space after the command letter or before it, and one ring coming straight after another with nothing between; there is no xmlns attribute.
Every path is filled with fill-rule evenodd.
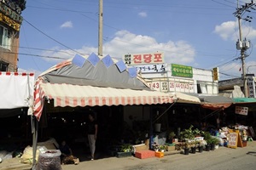
<svg viewBox="0 0 256 170"><path fill-rule="evenodd" d="M98 124L96 122L96 117L93 112L89 114L88 122L88 141L90 146L90 160L94 160L94 154L96 150L96 138L98 133Z"/></svg>

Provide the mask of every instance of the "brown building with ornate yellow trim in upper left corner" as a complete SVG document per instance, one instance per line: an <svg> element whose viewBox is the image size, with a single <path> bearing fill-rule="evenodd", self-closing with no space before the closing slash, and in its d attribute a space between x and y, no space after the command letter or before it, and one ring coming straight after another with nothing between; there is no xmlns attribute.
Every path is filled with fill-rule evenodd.
<svg viewBox="0 0 256 170"><path fill-rule="evenodd" d="M26 0L0 0L0 71L18 71L21 11Z"/></svg>

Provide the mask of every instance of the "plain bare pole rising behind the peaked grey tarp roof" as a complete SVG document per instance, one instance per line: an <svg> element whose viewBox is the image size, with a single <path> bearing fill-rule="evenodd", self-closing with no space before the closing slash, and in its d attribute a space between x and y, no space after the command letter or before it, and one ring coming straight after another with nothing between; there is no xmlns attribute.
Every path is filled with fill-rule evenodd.
<svg viewBox="0 0 256 170"><path fill-rule="evenodd" d="M99 0L98 55L102 56L103 0Z"/></svg>

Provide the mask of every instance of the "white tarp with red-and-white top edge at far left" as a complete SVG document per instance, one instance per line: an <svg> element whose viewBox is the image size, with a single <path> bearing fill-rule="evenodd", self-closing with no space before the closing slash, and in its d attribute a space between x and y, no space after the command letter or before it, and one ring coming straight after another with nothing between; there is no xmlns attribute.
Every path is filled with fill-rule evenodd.
<svg viewBox="0 0 256 170"><path fill-rule="evenodd" d="M34 80L33 73L0 72L0 109L28 107Z"/></svg>

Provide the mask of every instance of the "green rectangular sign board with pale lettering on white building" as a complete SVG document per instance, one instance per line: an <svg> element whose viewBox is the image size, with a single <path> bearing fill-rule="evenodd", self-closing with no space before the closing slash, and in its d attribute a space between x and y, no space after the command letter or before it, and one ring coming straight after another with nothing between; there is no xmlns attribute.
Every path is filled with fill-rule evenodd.
<svg viewBox="0 0 256 170"><path fill-rule="evenodd" d="M192 66L172 64L172 77L193 77Z"/></svg>

